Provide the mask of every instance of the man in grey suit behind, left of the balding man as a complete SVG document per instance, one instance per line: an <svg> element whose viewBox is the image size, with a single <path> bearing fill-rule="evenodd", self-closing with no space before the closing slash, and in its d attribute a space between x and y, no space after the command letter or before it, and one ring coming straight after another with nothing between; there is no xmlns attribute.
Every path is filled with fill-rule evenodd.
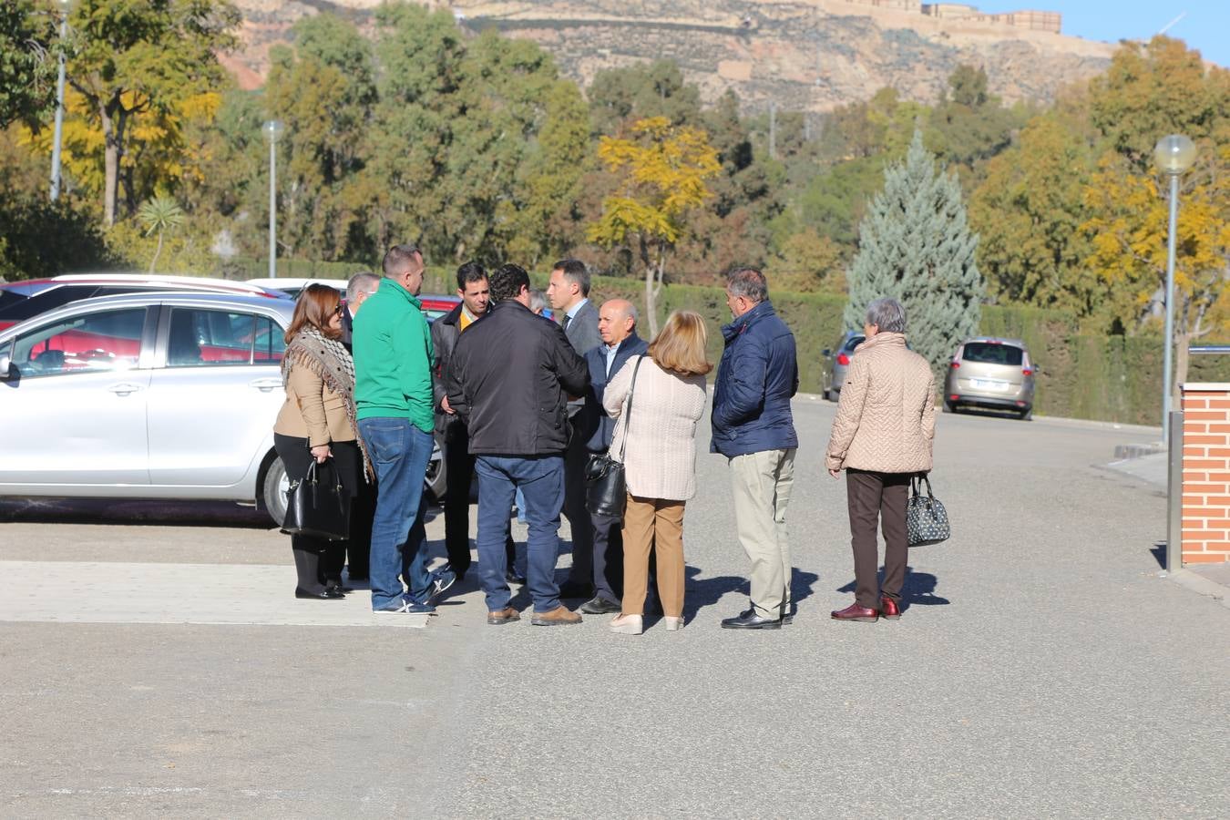
<svg viewBox="0 0 1230 820"><path fill-rule="evenodd" d="M598 332L598 309L589 301L589 270L579 259L561 259L551 270L551 284L546 289L547 299L555 310L556 318L563 325L563 333L578 355L584 355L603 343ZM589 452L585 449L584 430L576 429L577 417L584 409L584 398L577 397L568 402L568 419L573 427L565 452L565 495L563 514L572 529L572 570L568 580L560 586L561 597L589 597L593 595L593 553L594 534L585 509L585 461Z"/></svg>

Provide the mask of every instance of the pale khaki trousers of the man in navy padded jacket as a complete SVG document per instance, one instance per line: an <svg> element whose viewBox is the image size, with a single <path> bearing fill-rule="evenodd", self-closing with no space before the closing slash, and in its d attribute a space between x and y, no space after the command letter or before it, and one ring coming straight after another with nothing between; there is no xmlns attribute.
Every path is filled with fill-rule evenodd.
<svg viewBox="0 0 1230 820"><path fill-rule="evenodd" d="M790 612L786 505L795 483L795 447L731 459L734 522L752 562L752 606L768 618Z"/></svg>

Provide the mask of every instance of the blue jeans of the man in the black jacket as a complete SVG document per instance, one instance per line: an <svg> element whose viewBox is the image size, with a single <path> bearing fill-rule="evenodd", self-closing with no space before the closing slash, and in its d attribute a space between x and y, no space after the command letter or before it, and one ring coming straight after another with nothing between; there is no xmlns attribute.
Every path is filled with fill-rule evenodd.
<svg viewBox="0 0 1230 820"><path fill-rule="evenodd" d="M478 580L487 610L508 606L504 534L518 489L525 495L525 575L535 612L560 606L555 562L560 557L560 508L563 507L563 454L554 456L478 456Z"/></svg>

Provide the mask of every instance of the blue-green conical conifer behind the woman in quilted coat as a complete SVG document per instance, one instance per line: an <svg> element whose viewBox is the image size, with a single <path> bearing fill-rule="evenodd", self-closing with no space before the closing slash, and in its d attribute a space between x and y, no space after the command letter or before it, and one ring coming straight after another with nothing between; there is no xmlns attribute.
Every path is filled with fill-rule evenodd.
<svg viewBox="0 0 1230 820"><path fill-rule="evenodd" d="M846 325L861 327L868 304L893 296L905 306L910 345L942 370L956 345L978 331L977 247L957 178L936 171L915 130L905 161L884 170L884 188L859 226Z"/></svg>

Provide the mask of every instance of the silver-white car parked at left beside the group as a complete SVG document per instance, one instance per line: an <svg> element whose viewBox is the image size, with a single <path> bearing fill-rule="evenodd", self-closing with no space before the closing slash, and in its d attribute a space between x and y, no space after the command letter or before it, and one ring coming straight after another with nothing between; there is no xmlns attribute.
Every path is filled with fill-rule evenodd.
<svg viewBox="0 0 1230 820"><path fill-rule="evenodd" d="M294 302L143 293L0 332L0 495L221 499L280 525L273 420ZM434 452L428 491L443 495Z"/></svg>

